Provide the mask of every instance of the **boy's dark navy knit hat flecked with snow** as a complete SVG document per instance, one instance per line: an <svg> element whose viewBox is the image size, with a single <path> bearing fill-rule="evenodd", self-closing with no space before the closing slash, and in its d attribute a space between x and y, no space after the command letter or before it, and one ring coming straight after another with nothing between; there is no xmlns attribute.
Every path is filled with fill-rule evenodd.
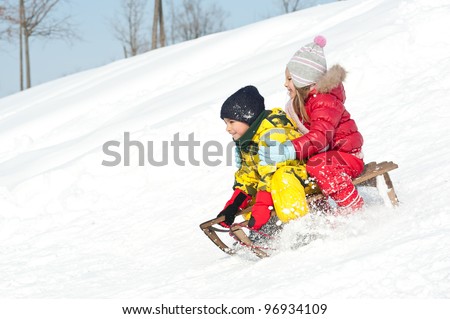
<svg viewBox="0 0 450 319"><path fill-rule="evenodd" d="M249 85L239 89L225 100L220 110L220 118L229 118L252 125L264 110L264 98L257 88Z"/></svg>

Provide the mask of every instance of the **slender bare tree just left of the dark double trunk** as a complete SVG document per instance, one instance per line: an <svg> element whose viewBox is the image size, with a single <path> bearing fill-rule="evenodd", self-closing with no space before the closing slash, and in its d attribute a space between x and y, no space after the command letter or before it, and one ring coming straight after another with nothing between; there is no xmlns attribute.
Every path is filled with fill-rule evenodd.
<svg viewBox="0 0 450 319"><path fill-rule="evenodd" d="M114 36L122 43L125 58L148 51L145 6L146 0L122 0L121 12L112 21Z"/></svg>

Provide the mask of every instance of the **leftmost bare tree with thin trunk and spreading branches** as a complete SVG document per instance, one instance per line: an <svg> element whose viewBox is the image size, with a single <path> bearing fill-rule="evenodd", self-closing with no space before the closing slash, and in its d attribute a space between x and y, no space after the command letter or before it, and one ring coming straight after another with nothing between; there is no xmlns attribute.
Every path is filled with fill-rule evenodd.
<svg viewBox="0 0 450 319"><path fill-rule="evenodd" d="M63 0L19 0L12 5L5 2L6 20L10 23L10 32L17 34L20 42L20 70L23 78L23 55L25 58L26 87L31 87L30 38L63 39L71 41L78 38L70 16L56 14ZM21 80L21 89L23 89Z"/></svg>

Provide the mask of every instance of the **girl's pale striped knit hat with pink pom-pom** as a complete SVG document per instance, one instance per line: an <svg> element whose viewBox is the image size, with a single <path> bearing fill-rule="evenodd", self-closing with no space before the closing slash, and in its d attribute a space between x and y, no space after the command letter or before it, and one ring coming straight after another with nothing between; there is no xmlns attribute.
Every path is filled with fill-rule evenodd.
<svg viewBox="0 0 450 319"><path fill-rule="evenodd" d="M314 83L327 71L327 61L323 53L323 47L327 40L318 35L314 42L305 45L295 52L287 64L292 81L296 88L302 88Z"/></svg>

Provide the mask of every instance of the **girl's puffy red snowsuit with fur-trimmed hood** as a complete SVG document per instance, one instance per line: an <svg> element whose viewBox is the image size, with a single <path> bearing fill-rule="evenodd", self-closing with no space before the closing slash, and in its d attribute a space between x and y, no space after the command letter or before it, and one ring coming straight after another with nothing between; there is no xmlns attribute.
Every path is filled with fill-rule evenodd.
<svg viewBox="0 0 450 319"><path fill-rule="evenodd" d="M352 179L364 168L362 135L344 107L345 70L332 67L315 85L305 102L309 130L292 141L297 158L308 159L306 170L322 192L338 206L351 209L364 204Z"/></svg>

